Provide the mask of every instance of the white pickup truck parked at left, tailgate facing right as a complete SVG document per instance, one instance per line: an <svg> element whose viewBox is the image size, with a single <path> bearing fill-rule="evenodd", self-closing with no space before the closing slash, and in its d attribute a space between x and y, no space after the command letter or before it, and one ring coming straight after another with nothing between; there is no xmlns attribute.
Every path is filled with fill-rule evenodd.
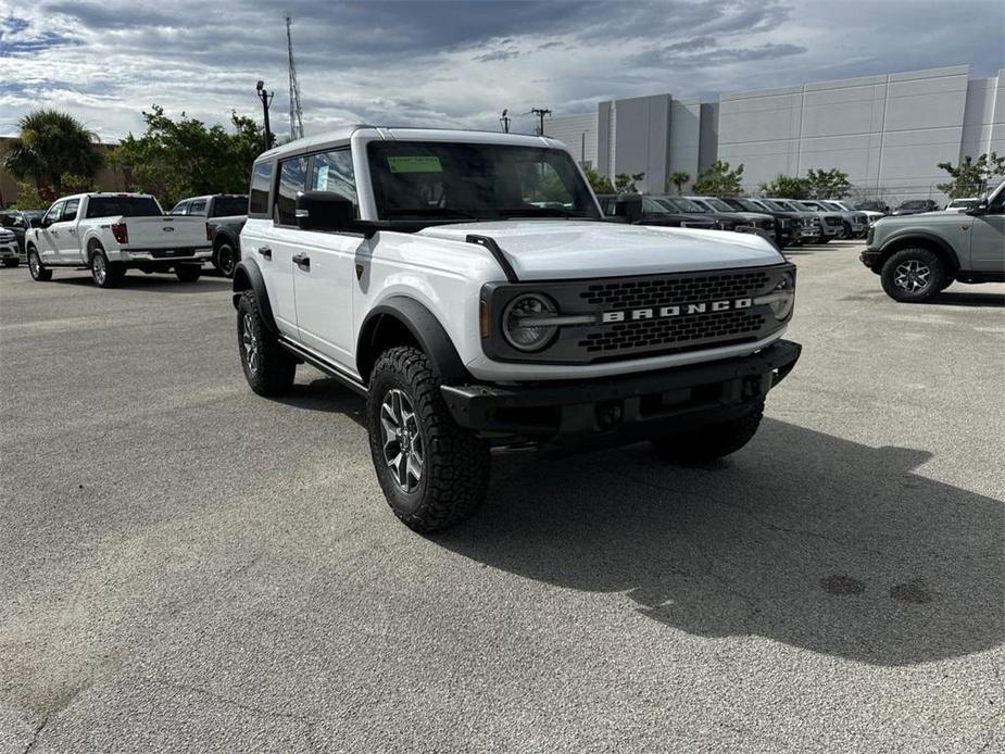
<svg viewBox="0 0 1005 754"><path fill-rule="evenodd" d="M56 200L26 234L25 252L36 280L49 280L53 267L74 267L114 288L130 267L198 280L213 248L205 218L167 216L146 193L100 192Z"/></svg>

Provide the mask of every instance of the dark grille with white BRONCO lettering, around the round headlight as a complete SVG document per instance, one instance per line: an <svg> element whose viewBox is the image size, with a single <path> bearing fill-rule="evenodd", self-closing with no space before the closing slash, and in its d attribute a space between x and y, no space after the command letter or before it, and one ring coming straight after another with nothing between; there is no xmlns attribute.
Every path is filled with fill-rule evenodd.
<svg viewBox="0 0 1005 754"><path fill-rule="evenodd" d="M589 364L754 342L784 325L768 304L755 299L771 292L787 273L794 275L794 267L779 264L605 280L489 284L482 296L493 312L502 312L522 292L533 291L551 298L560 316L595 318L558 327L541 351L512 349L498 323L482 344L486 354L497 361Z"/></svg>

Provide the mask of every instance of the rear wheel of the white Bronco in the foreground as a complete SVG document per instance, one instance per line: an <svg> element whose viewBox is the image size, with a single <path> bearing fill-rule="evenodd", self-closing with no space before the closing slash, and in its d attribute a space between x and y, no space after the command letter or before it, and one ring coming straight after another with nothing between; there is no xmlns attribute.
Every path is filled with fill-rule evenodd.
<svg viewBox="0 0 1005 754"><path fill-rule="evenodd" d="M259 302L250 290L241 294L237 305L237 344L244 379L252 390L273 397L290 389L297 376L297 362L265 326Z"/></svg>

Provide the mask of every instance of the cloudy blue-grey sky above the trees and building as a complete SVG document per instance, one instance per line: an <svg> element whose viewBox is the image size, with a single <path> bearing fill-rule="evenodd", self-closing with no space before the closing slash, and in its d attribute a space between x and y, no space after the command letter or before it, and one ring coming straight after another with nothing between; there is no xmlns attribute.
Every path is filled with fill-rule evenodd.
<svg viewBox="0 0 1005 754"><path fill-rule="evenodd" d="M531 106L1005 65L1001 0L0 0L0 135L38 106L105 141L140 133L152 103L212 123L260 117L259 78L285 134L285 11L307 134L346 121L494 128L503 108L527 130Z"/></svg>

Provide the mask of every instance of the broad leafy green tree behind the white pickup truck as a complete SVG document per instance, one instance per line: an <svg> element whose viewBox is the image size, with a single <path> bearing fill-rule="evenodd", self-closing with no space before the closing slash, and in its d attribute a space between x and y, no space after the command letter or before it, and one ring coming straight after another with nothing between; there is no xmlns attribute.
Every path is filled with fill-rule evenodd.
<svg viewBox="0 0 1005 754"><path fill-rule="evenodd" d="M262 151L263 129L250 117L230 114L231 130L208 127L185 113L178 120L153 105L143 112L147 129L129 134L112 154L129 187L156 194L165 206L187 196L243 193Z"/></svg>

